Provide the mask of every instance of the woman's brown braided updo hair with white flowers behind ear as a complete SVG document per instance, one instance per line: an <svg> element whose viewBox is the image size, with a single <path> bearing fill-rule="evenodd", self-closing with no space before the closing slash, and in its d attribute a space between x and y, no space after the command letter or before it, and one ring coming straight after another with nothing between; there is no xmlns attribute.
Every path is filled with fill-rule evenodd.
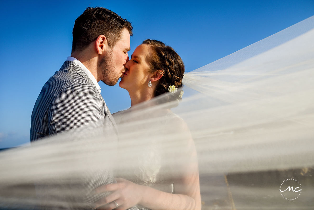
<svg viewBox="0 0 314 210"><path fill-rule="evenodd" d="M142 44L149 45L149 73L161 71L163 74L156 86L154 96L168 92L169 86L172 85L176 88L182 87L185 67L178 53L161 41L146 39Z"/></svg>

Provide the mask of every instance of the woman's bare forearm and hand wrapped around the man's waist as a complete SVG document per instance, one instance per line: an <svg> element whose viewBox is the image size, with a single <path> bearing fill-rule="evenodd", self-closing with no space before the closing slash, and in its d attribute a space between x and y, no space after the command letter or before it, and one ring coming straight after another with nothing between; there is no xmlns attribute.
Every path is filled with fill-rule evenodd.
<svg viewBox="0 0 314 210"><path fill-rule="evenodd" d="M152 210L201 209L200 195L197 189L186 193L189 195L171 194L148 186L138 185L122 178L116 180L116 184L104 185L95 189L95 193L105 191L113 191L113 193L96 202L94 208L102 206L99 209L125 210L140 204ZM197 183L195 184L197 185ZM199 188L199 185L196 188ZM116 204L118 207L116 207Z"/></svg>

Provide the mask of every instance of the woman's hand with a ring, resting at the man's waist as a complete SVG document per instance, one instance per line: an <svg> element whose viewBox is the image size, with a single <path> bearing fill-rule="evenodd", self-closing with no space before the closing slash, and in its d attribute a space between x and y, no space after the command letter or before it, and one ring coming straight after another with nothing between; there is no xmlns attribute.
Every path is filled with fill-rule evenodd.
<svg viewBox="0 0 314 210"><path fill-rule="evenodd" d="M103 206L100 209L104 210L125 210L129 207L133 207L138 204L145 190L145 186L137 185L129 180L122 178L115 178L117 183L103 185L97 187L94 190L94 194L111 191L112 193L109 196L104 197L103 199L95 202L94 208Z"/></svg>

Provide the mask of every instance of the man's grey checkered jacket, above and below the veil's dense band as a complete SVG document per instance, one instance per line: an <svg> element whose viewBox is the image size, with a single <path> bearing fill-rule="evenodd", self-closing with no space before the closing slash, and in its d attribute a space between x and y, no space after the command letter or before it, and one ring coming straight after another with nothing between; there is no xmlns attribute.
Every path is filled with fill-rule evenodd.
<svg viewBox="0 0 314 210"><path fill-rule="evenodd" d="M82 128L80 132L101 128L105 131L104 141L106 135L117 135L115 121L93 82L80 66L65 61L60 70L46 82L37 98L31 117L30 138L35 141L77 128ZM115 182L113 174L106 169L87 172L82 177L82 180L89 181L68 184L66 180L50 179L49 182L36 183L36 194L41 202L39 208L92 209L89 204L105 195L94 196L90 192L98 186ZM82 194L58 196L60 191L71 192L73 189L82 191ZM56 203L59 204L56 206ZM135 206L131 209L144 208Z"/></svg>

